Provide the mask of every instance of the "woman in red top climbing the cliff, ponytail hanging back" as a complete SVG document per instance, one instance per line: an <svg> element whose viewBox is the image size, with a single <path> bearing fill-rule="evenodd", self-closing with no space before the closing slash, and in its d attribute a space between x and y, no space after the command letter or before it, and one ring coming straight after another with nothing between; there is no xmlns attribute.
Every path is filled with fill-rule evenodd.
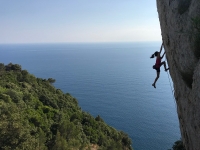
<svg viewBox="0 0 200 150"><path fill-rule="evenodd" d="M164 57L164 55L165 55L165 52L164 52L164 54L162 55L162 57L160 56L160 54L161 54L161 52L162 52L162 48L163 48L163 43L162 43L162 45L161 45L161 47L160 47L160 52L155 52L154 54L152 54L152 56L150 57L150 58L154 58L155 56L157 57L156 58L156 64L155 65L153 65L153 69L155 69L156 71L157 71L157 77L155 78L155 81L154 81L154 83L152 84L152 86L154 87L154 88L156 88L156 81L158 80L158 78L159 78L159 76L160 76L160 67L162 66L162 65L164 65L164 68L165 68L165 71L167 71L167 70L169 70L169 68L167 68L166 67L166 62L165 61L163 61L163 62L161 62L161 59Z"/></svg>

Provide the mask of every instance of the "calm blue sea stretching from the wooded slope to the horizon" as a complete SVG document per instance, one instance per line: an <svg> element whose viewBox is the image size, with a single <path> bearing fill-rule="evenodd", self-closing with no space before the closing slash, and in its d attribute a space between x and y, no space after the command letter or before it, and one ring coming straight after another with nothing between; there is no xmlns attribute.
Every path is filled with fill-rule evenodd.
<svg viewBox="0 0 200 150"><path fill-rule="evenodd" d="M150 55L160 43L0 45L0 62L18 63L77 98L82 110L128 133L134 150L167 150L180 139L176 104ZM173 84L172 84L173 86Z"/></svg>

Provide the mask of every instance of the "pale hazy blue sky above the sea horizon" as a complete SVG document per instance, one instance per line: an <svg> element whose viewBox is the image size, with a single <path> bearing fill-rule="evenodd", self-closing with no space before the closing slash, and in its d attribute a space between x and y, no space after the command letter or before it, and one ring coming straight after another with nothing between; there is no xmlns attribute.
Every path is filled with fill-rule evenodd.
<svg viewBox="0 0 200 150"><path fill-rule="evenodd" d="M161 41L156 0L0 0L0 43Z"/></svg>

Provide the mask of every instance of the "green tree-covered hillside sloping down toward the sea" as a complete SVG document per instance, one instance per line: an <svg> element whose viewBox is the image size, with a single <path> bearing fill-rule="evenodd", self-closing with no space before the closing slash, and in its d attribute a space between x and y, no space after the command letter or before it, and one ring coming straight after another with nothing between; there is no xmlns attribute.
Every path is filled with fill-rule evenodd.
<svg viewBox="0 0 200 150"><path fill-rule="evenodd" d="M83 112L69 93L17 64L0 64L0 149L131 150L127 134Z"/></svg>

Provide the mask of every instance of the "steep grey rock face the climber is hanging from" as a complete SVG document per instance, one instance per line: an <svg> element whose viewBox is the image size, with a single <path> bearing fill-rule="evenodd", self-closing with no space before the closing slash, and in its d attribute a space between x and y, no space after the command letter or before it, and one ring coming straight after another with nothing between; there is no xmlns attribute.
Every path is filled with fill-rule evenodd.
<svg viewBox="0 0 200 150"><path fill-rule="evenodd" d="M200 150L200 0L157 0L184 145Z"/></svg>

